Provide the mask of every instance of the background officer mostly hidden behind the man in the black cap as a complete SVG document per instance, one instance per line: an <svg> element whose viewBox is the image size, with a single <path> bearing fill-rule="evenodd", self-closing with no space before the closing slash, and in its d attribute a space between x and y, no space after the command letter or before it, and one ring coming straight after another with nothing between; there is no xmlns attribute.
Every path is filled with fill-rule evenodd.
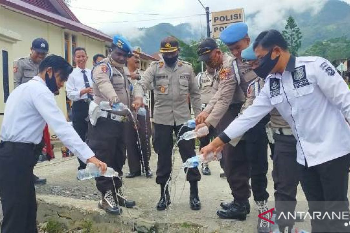
<svg viewBox="0 0 350 233"><path fill-rule="evenodd" d="M214 78L216 76L216 70L210 67L206 68L205 72L198 73L196 76L198 87L201 91L201 99L202 99L202 110L207 107L210 99L212 98L212 86L214 83ZM207 136L199 138L200 145L199 149L201 150L204 146L210 143L210 140L214 139L217 136L216 129L214 127L209 128L209 134ZM226 178L224 173L224 160L220 160L220 177ZM203 175L211 175L211 171L208 163L202 163L202 174Z"/></svg>

